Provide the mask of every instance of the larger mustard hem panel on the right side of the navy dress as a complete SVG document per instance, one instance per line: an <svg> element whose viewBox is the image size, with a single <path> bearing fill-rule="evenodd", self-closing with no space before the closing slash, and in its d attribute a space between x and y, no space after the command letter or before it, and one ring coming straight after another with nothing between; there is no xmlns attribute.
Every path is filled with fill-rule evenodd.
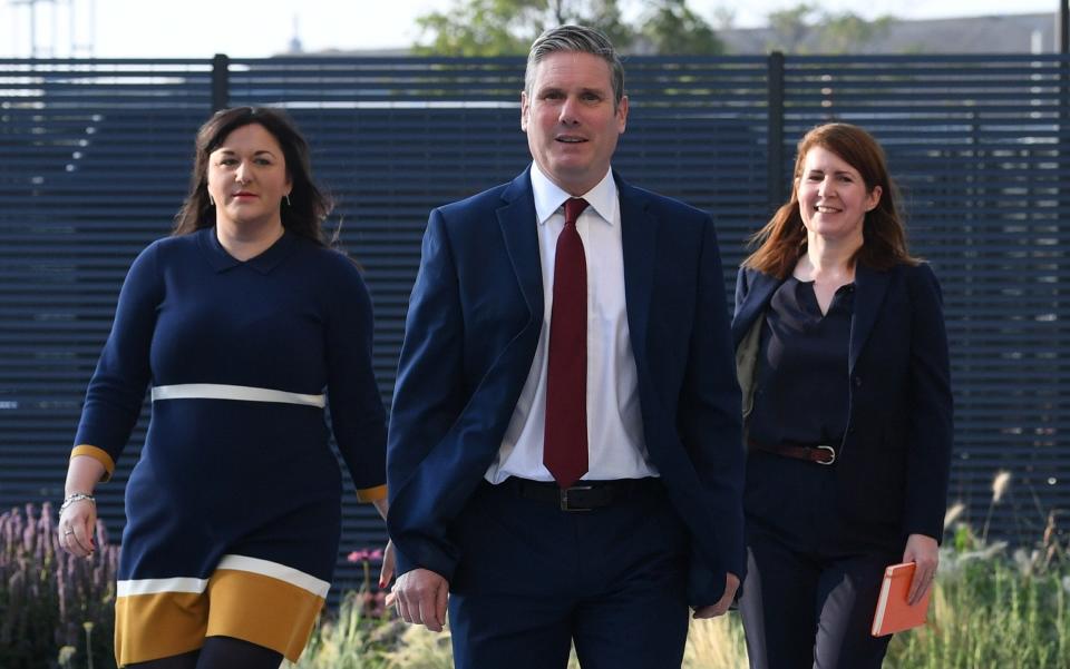
<svg viewBox="0 0 1070 669"><path fill-rule="evenodd" d="M234 637L296 662L324 599L309 590L249 571L217 569L208 579L208 637Z"/></svg>

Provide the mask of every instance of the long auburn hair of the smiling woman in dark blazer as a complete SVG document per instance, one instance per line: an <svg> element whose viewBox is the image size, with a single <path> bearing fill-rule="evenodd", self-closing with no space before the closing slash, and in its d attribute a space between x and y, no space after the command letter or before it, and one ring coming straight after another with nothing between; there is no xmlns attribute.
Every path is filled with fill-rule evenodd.
<svg viewBox="0 0 1070 669"><path fill-rule="evenodd" d="M916 265L917 258L911 256L906 246L906 226L899 213L898 190L888 175L884 149L872 135L850 124L818 126L799 141L791 197L751 237L751 245L758 248L743 260L743 265L778 278L785 278L795 268L807 238L799 213L799 179L807 151L817 146L836 154L857 169L867 193L881 187L881 200L866 213L862 226L862 247L855 252L852 260L875 269L889 269L901 264Z"/></svg>

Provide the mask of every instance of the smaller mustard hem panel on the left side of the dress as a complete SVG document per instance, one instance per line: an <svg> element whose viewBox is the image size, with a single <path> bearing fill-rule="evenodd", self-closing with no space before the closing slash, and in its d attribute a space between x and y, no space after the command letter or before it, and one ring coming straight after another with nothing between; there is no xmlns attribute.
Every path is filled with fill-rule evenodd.
<svg viewBox="0 0 1070 669"><path fill-rule="evenodd" d="M119 667L196 650L204 645L208 600L197 592L157 592L115 600Z"/></svg>

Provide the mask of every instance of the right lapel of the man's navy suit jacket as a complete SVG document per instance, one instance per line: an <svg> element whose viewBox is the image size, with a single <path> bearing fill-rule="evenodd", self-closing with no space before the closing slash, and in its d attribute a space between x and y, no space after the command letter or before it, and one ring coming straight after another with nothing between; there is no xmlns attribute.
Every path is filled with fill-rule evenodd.
<svg viewBox="0 0 1070 669"><path fill-rule="evenodd" d="M646 203L642 195L616 174L613 177L616 179L617 197L621 203L628 329L635 362L638 365L645 366L646 322L650 317L650 296L653 293L659 224L646 211Z"/></svg>

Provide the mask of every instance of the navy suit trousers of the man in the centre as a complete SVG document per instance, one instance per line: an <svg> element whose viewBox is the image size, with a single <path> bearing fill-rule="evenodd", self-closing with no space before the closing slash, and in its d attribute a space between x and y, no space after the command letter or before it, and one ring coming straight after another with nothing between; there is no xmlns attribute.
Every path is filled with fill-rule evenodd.
<svg viewBox="0 0 1070 669"><path fill-rule="evenodd" d="M679 668L688 538L660 484L593 511L561 511L484 484L454 538L457 669Z"/></svg>

